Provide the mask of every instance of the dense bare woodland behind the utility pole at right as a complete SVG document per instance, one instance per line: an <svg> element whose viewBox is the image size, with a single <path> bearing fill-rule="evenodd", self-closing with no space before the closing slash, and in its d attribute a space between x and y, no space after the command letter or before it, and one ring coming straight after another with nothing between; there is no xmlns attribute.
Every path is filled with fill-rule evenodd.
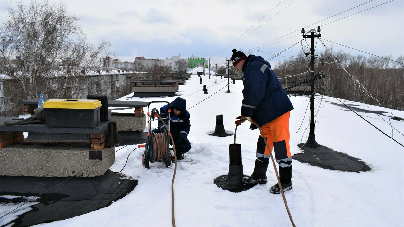
<svg viewBox="0 0 404 227"><path fill-rule="evenodd" d="M282 86L290 86L308 78L308 74L304 74L308 70L307 58L303 52L300 56L303 57L279 61L274 67ZM393 59L391 55L385 58ZM322 87L323 82L320 82L318 92L329 96L332 92L337 98L372 105L380 105L380 102L385 107L404 110L403 57L398 57L397 61L401 63L375 56L350 55L328 47L324 52L318 53L316 58L316 72L322 71L326 75L326 86ZM290 76L295 74L299 75ZM306 85L309 90L309 84Z"/></svg>

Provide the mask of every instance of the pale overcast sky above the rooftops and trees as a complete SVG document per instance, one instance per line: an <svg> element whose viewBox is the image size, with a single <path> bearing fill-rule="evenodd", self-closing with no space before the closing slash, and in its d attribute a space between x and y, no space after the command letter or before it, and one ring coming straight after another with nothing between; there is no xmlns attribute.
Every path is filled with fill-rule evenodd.
<svg viewBox="0 0 404 227"><path fill-rule="evenodd" d="M214 65L214 63L223 64L225 57L231 57L233 48L244 52L253 49L252 53L255 54L257 47L260 46L262 51L277 54L301 40L302 27L315 23L306 27L307 32L318 25L324 25L389 0L372 0L320 23L316 22L368 0L54 1L66 3L69 13L82 18L80 24L90 40L93 42L97 42L99 38L108 40L111 43L110 50L122 61L135 61L137 56L171 58L174 54L183 58L191 55L211 57L211 64ZM7 2L0 0L2 21L6 16ZM322 38L375 55L393 55L393 57L404 55L403 2L394 0L324 25L321 27ZM275 8L276 5L278 6ZM269 11L271 13L266 15ZM262 17L264 18L259 21ZM246 32L257 21L259 22ZM267 22L264 23L265 21ZM259 27L260 25L262 26ZM252 32L257 27L259 28ZM297 36L272 44L284 39L280 38L281 36L296 30L299 31L284 38ZM246 33L242 35L244 32ZM250 32L252 33L249 34ZM247 34L249 35L246 36ZM246 37L238 42L236 39L239 36L241 37L238 40ZM268 44L265 43L277 38L280 39L266 46ZM234 40L238 42L234 42L235 45L231 44ZM327 45L331 44L324 42ZM229 44L231 45L228 46ZM221 52L226 46L227 50ZM336 44L333 44L333 47L347 53L360 53ZM300 43L282 53L282 56L296 55L299 50L301 50ZM262 51L256 54L265 59L271 57ZM270 63L274 65L279 60L283 58L275 58Z"/></svg>

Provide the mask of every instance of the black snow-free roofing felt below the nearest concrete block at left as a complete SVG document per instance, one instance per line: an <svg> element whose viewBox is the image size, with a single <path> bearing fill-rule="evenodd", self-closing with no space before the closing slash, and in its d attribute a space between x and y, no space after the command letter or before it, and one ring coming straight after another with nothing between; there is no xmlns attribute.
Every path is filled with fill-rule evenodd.
<svg viewBox="0 0 404 227"><path fill-rule="evenodd" d="M124 177L110 170L99 177L73 177L67 181L65 177L0 176L0 195L28 197L46 191L38 198L39 204L31 206L32 210L12 221L15 224L13 226L32 226L72 218L109 206L136 187L137 181ZM62 184L54 187L59 183ZM21 198L19 200L0 200L0 204L23 202Z"/></svg>

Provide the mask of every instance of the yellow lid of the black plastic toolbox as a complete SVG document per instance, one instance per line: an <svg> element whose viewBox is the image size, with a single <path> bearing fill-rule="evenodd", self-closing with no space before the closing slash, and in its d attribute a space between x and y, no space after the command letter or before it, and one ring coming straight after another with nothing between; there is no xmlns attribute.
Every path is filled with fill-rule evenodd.
<svg viewBox="0 0 404 227"><path fill-rule="evenodd" d="M48 99L44 108L50 109L97 109L101 101L97 99Z"/></svg>

